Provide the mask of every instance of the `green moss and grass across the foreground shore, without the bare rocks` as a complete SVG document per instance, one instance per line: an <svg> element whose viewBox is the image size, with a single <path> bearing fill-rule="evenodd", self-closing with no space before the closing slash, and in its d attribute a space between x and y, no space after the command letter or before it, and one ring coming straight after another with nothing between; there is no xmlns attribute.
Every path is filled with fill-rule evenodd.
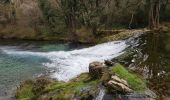
<svg viewBox="0 0 170 100"><path fill-rule="evenodd" d="M93 79L88 73L83 73L69 82L59 82L47 78L28 80L17 89L16 97L18 100L68 100L73 97L87 99L89 96L95 97L99 93L101 83L105 82L107 84L107 79L110 79L109 77L114 74L126 80L130 85L129 87L135 92L145 91L145 81L122 65L116 64L108 71L104 74L110 75L106 75L101 79Z"/></svg>

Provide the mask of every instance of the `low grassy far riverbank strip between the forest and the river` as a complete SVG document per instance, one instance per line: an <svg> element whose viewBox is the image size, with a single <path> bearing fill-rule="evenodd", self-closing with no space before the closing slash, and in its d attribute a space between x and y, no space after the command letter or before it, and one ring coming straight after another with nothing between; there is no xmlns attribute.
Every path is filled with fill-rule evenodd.
<svg viewBox="0 0 170 100"><path fill-rule="evenodd" d="M36 33L17 34L17 33L0 33L1 40L26 40L26 41L60 41L60 42L76 42L80 44L99 44L109 41L123 40L129 38L136 33L149 32L148 29L120 29L120 30L98 30L96 36L79 36L77 41L73 41L69 34L51 34L38 35ZM88 33L84 33L88 34ZM90 39L89 39L90 38Z"/></svg>

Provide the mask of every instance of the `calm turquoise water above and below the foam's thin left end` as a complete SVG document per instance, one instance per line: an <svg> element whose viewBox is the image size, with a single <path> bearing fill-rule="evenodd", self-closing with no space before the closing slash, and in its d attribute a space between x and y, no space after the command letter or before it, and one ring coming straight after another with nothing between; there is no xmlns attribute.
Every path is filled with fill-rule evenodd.
<svg viewBox="0 0 170 100"><path fill-rule="evenodd" d="M46 74L43 63L49 59L34 55L6 54L4 50L49 52L71 49L68 44L55 42L0 41L0 100L10 100L13 90L24 80Z"/></svg>

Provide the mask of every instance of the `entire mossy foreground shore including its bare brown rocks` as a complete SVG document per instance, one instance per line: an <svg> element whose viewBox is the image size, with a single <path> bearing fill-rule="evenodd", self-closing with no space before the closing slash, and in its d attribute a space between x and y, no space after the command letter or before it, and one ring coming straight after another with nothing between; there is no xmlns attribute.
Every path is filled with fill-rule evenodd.
<svg viewBox="0 0 170 100"><path fill-rule="evenodd" d="M92 62L89 73L83 73L69 82L46 77L23 82L16 91L18 100L93 100L104 88L103 100L154 100L155 94L148 90L146 81L111 61ZM101 99L102 100L102 99Z"/></svg>

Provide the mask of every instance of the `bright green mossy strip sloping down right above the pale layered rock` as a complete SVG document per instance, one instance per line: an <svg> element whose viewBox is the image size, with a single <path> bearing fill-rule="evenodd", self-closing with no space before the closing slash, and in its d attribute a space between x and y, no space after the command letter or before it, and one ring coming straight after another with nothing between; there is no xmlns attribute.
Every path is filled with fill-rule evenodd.
<svg viewBox="0 0 170 100"><path fill-rule="evenodd" d="M111 71L112 73L118 75L120 78L126 80L133 90L142 92L146 89L146 82L143 81L137 74L129 72L122 65L116 64L112 67Z"/></svg>

